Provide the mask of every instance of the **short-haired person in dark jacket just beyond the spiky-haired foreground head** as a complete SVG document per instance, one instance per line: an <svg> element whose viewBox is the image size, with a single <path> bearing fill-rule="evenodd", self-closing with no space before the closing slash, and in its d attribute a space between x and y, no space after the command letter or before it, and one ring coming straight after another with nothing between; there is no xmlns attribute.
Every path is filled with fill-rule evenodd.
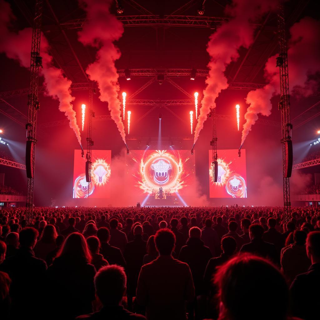
<svg viewBox="0 0 320 320"><path fill-rule="evenodd" d="M106 227L101 227L97 231L97 237L100 240L100 253L109 264L117 264L125 267L125 260L119 248L113 247L109 244L110 233Z"/></svg>

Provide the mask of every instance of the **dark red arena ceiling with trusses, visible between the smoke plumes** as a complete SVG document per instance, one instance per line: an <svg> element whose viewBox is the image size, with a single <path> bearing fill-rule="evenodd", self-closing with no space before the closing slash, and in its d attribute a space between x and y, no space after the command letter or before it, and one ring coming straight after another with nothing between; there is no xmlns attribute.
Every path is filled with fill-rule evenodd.
<svg viewBox="0 0 320 320"><path fill-rule="evenodd" d="M34 1L12 0L10 3L17 17L15 28L32 26ZM207 0L204 15L200 16L197 10L201 6L201 1L198 0L122 0L121 6L124 12L121 15L116 13L115 2L112 12L123 22L125 28L123 36L117 42L121 51L121 58L116 61L120 85L125 83L123 70L130 68L135 99L159 101L165 98L171 101L180 99L180 102L181 99L190 99L188 94L190 95L192 89L188 84L189 70L193 68L199 70L197 81L199 87L203 89L209 61L205 50L206 44L214 30L223 21L228 20L224 9L230 3L228 0ZM314 6L313 2L305 0L288 1L285 7L288 28L301 17L316 14ZM95 59L96 50L83 46L77 40L77 32L81 30L85 19L85 12L76 0L44 0L44 35L51 45L50 53L55 65L60 67L72 81L74 90L86 90L89 80L85 69ZM264 83L264 65L268 58L277 52L276 14L268 13L261 20L252 23L256 26L253 44L249 49L242 48L239 59L232 62L226 70L230 83L229 90L247 92L261 86ZM16 63L7 60L2 59L4 74L8 76L1 80L0 98L3 100L0 111L3 115L11 117L12 120L18 119L23 124L25 107L15 105L15 101L18 100L11 99L27 93L28 72L21 71ZM166 85L177 89L164 98L156 92L156 88L153 87L155 84L152 84L152 79L159 70L166 74ZM18 73L19 77L12 76ZM308 119L318 116L319 96L320 94L316 94L309 98L302 108L301 105L299 108L292 107L292 119L295 124L301 125L308 122ZM176 105L181 104L176 102ZM141 106L142 109L143 106L147 107L141 109L143 112L140 116L152 108L152 104L148 103ZM108 111L100 112L101 115L107 113ZM49 116L49 118L45 121L43 117L40 123L63 119L63 115L53 116L53 119ZM278 117L268 120L280 119Z"/></svg>

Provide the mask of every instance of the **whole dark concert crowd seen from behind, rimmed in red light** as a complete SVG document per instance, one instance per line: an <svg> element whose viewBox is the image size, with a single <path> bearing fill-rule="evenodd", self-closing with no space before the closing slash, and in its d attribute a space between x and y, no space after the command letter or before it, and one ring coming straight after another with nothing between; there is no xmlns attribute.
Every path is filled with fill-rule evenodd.
<svg viewBox="0 0 320 320"><path fill-rule="evenodd" d="M0 213L1 319L319 318L320 209Z"/></svg>

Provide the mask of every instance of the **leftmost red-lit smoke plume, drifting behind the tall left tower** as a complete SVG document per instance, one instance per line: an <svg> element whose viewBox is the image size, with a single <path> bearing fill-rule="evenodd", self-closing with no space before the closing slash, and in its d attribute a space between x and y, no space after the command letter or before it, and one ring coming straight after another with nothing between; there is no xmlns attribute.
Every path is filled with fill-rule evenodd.
<svg viewBox="0 0 320 320"><path fill-rule="evenodd" d="M3 0L0 1L0 12L0 52L5 52L8 58L18 60L22 67L30 68L32 28L25 28L18 33L11 31L9 29L10 22L15 20L15 17L10 5ZM70 128L73 129L79 144L81 144L76 112L72 106L72 101L75 98L71 95L71 81L63 76L62 70L52 65L49 44L44 35L41 35L40 51L43 58L43 68L40 68L40 74L44 76L46 93L59 100L59 110L67 116Z"/></svg>

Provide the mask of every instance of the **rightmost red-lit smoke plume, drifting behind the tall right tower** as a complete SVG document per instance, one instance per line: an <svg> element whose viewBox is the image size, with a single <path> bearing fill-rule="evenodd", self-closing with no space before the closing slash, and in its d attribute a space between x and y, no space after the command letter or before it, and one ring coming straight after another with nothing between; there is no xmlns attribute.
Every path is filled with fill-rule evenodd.
<svg viewBox="0 0 320 320"><path fill-rule="evenodd" d="M291 40L288 49L289 88L294 94L294 89L307 97L319 85L320 72L320 43L315 39L320 38L320 21L310 17L301 19L290 28ZM277 55L268 59L265 66L265 78L268 84L262 88L250 91L246 97L249 104L244 118L241 145L250 132L252 125L258 119L258 114L269 116L272 105L270 99L275 94L280 94L279 68L276 67Z"/></svg>

